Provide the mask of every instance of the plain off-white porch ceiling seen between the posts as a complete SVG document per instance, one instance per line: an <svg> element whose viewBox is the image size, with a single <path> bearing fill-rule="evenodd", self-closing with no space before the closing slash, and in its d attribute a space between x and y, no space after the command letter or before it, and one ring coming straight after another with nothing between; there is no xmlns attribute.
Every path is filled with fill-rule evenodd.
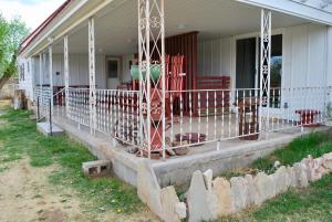
<svg viewBox="0 0 332 222"><path fill-rule="evenodd" d="M137 50L137 3L117 0L98 12L95 19L96 53L121 55ZM200 39L232 36L260 30L260 8L234 0L166 0L166 36L198 31ZM272 29L309 21L279 12L272 13ZM63 52L59 42L54 52ZM87 25L69 36L70 53L87 53Z"/></svg>

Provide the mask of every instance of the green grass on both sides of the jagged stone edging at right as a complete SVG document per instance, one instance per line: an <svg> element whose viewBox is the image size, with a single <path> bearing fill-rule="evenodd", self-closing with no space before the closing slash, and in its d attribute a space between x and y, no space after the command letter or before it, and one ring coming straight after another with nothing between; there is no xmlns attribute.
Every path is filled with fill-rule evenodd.
<svg viewBox="0 0 332 222"><path fill-rule="evenodd" d="M256 160L250 168L252 171L263 170L271 173L277 160L281 165L293 165L308 155L315 158L331 151L330 134L315 133L294 139L284 148ZM310 183L305 189L290 189L260 208L217 221L332 221L332 175Z"/></svg>

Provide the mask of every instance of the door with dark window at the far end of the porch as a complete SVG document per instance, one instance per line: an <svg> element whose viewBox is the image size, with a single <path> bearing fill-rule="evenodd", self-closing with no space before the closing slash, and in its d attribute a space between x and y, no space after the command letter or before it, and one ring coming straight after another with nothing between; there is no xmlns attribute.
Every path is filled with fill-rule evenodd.
<svg viewBox="0 0 332 222"><path fill-rule="evenodd" d="M118 57L106 59L107 88L116 89L120 84L121 60Z"/></svg>

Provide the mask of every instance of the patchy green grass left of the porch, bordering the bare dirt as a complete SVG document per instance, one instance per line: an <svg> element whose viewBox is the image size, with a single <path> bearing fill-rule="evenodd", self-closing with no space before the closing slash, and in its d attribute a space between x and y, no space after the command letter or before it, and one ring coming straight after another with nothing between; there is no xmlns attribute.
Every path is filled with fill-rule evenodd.
<svg viewBox="0 0 332 222"><path fill-rule="evenodd" d="M33 167L60 166L50 182L71 187L98 211L132 213L142 209L136 190L115 178L89 179L82 173L82 162L94 160L89 150L68 137L44 137L37 133L30 112L7 109L0 116L0 171L7 162L30 158Z"/></svg>

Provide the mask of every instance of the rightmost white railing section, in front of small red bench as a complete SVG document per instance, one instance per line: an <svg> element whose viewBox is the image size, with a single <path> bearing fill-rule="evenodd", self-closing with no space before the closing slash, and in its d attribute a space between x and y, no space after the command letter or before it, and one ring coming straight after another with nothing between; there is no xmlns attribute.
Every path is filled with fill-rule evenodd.
<svg viewBox="0 0 332 222"><path fill-rule="evenodd" d="M323 124L329 87L271 88L268 131Z"/></svg>

